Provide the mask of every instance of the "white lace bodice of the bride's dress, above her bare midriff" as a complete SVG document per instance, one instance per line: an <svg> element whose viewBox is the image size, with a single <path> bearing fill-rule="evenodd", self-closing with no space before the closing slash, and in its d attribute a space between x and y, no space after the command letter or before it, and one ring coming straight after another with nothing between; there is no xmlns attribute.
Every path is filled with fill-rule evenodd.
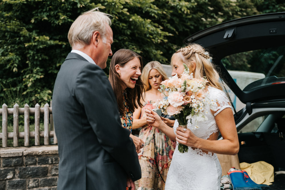
<svg viewBox="0 0 285 190"><path fill-rule="evenodd" d="M216 89L214 87L209 86L209 98L216 100L217 106L214 107L213 111L215 112L214 115L212 115L210 106L207 105L205 107L204 115L208 118L207 121L196 123L192 120L192 123L190 120L188 120L187 128L189 128L195 136L207 139L209 136L215 132L219 131L219 128L215 121L215 116L219 114L223 109L225 108L231 108L229 105L229 99L225 95L225 93L219 89ZM199 126L198 128L194 128L194 126ZM174 123L174 133L176 135L176 128L178 127L178 121L176 120Z"/></svg>

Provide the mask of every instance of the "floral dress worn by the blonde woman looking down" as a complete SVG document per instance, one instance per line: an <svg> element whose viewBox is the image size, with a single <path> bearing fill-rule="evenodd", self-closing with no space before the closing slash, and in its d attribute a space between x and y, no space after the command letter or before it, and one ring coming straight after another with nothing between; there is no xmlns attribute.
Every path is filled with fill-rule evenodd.
<svg viewBox="0 0 285 190"><path fill-rule="evenodd" d="M141 118L146 117L144 112L145 109L154 108L152 101L147 101L142 108ZM142 171L142 178L139 179L138 190L164 189L165 184L158 173L155 161L158 163L159 172L161 173L164 181L166 181L166 176L176 144L157 128L155 128L154 136L155 137L153 139L153 127L150 125L143 126L139 133L139 138L144 141L144 148L142 148L141 153L138 154Z"/></svg>

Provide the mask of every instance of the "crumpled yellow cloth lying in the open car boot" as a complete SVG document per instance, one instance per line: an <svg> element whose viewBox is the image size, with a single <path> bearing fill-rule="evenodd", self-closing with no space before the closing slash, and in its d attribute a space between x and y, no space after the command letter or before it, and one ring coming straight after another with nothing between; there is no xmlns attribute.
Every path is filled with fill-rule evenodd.
<svg viewBox="0 0 285 190"><path fill-rule="evenodd" d="M257 184L271 185L270 182L274 181L274 168L267 162L259 161L252 164L242 162L239 165Z"/></svg>

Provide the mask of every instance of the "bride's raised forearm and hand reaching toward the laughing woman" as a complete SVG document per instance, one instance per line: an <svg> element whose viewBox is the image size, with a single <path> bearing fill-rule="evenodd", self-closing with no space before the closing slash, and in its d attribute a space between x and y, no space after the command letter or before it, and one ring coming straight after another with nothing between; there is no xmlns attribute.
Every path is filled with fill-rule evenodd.
<svg viewBox="0 0 285 190"><path fill-rule="evenodd" d="M176 136L175 133L173 131L173 128L167 126L161 119L160 117L157 115L156 112L152 111L152 110L148 110L145 109L144 110L146 112L146 122L153 126L158 128L159 130L161 130L164 134L166 134L166 136L168 136L171 140L176 140Z"/></svg>

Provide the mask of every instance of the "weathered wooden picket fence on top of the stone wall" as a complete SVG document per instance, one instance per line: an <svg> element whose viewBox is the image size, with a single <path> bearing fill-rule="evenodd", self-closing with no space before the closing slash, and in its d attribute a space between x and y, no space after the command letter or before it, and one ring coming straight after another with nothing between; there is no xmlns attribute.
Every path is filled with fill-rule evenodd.
<svg viewBox="0 0 285 190"><path fill-rule="evenodd" d="M35 116L35 129L30 131L30 115ZM40 114L44 114L44 131L40 131ZM57 144L57 138L54 132L54 125L52 119L52 101L50 106L48 103L44 107L40 107L37 103L34 108L30 108L28 104L24 108L19 108L16 103L13 108L8 108L4 103L0 109L2 115L2 133L0 133L0 140L2 140L2 147L7 147L8 139L13 139L13 146L18 146L19 139L24 139L24 146L29 146L29 139L34 138L35 144L40 145L40 138L44 138L44 145L49 144L49 138L53 137L53 143ZM13 132L8 132L8 115L13 115ZM19 115L24 115L24 132L19 132ZM50 127L49 127L50 123Z"/></svg>

